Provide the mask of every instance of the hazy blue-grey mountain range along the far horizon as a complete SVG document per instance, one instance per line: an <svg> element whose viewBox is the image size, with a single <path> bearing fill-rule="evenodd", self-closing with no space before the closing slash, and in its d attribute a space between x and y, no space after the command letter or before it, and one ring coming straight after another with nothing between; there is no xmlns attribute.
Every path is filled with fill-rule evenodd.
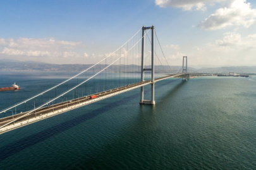
<svg viewBox="0 0 256 170"><path fill-rule="evenodd" d="M35 61L23 61L12 59L0 59L0 71L75 71L80 72L84 71L92 64L49 64L44 62L35 62ZM90 71L98 72L106 65L96 65L94 69ZM146 65L145 68L150 68L150 65ZM139 65L111 65L109 67L110 72L140 72ZM156 65L155 72L181 72L182 67L180 66L171 66L171 69L168 65L164 67ZM197 73L209 73L209 74L228 74L229 72L235 72L236 74L256 74L256 66L232 66L232 67L202 67L201 69L195 69L193 67L188 67L188 72L197 72Z"/></svg>

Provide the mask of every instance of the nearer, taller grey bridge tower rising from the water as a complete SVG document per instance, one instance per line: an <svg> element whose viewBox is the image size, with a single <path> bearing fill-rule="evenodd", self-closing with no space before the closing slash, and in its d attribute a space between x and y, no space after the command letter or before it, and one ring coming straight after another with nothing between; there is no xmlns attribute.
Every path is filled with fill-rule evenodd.
<svg viewBox="0 0 256 170"><path fill-rule="evenodd" d="M144 42L145 42L145 30L151 29L151 69L144 68ZM154 57L155 57L155 49L154 49L154 31L155 28L152 25L151 27L142 27L142 68L141 68L141 81L144 81L144 72L151 71L151 100L144 100L144 87L140 88L140 104L149 104L155 105L155 64L154 64Z"/></svg>

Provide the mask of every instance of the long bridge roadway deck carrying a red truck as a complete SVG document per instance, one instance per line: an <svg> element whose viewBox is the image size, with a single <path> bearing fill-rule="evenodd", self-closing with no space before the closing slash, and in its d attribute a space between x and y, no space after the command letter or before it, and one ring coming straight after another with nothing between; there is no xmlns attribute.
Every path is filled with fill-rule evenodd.
<svg viewBox="0 0 256 170"><path fill-rule="evenodd" d="M155 79L155 82L161 81L163 79L168 79L170 77L180 76L181 74L169 75L165 77L160 77ZM64 101L63 103L58 103L51 106L46 106L43 108L36 109L35 111L29 113L30 111L19 113L13 116L8 116L0 119L0 134L4 132L8 132L9 130L13 130L15 128L23 127L30 123L34 123L45 118L49 118L54 115L58 115L64 113L69 110L73 110L75 108L79 108L84 105L88 105L90 103L94 103L96 101L109 98L111 96L115 96L120 93L125 93L126 91L130 91L132 89L140 88L141 86L146 86L147 84L151 84L152 82L143 81L135 84L130 84L128 86L123 86L121 88L111 89L108 91L103 91L101 93L91 94L90 96L97 95L97 98L90 98L90 96L83 96L81 98L76 98L68 101ZM29 113L29 114L28 114ZM27 114L27 115L26 115ZM15 121L13 121L15 120Z"/></svg>

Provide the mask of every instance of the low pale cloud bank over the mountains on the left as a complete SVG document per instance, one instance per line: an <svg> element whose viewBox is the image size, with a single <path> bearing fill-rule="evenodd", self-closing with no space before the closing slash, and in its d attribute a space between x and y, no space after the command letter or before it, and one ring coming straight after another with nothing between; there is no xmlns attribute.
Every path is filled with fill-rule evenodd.
<svg viewBox="0 0 256 170"><path fill-rule="evenodd" d="M54 38L0 38L0 55L23 57L82 57L73 51L81 42L59 41Z"/></svg>

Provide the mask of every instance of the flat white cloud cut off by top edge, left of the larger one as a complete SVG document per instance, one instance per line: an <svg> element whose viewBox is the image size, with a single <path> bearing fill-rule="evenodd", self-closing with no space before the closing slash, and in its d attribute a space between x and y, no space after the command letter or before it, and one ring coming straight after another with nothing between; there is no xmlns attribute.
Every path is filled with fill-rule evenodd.
<svg viewBox="0 0 256 170"><path fill-rule="evenodd" d="M162 8L174 7L182 8L185 11L192 9L205 11L207 9L205 4L212 6L213 3L221 1L224 0L155 0L155 4Z"/></svg>

